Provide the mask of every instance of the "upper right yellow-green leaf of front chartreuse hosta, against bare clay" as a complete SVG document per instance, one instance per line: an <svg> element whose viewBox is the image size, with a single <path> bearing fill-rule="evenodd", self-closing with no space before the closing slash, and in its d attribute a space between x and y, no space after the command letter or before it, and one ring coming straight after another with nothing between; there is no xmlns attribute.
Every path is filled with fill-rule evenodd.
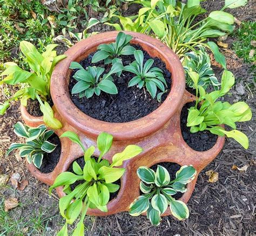
<svg viewBox="0 0 256 236"><path fill-rule="evenodd" d="M123 161L137 156L142 151L143 149L137 145L128 145L122 152L113 156L111 166L120 166L123 164Z"/></svg>

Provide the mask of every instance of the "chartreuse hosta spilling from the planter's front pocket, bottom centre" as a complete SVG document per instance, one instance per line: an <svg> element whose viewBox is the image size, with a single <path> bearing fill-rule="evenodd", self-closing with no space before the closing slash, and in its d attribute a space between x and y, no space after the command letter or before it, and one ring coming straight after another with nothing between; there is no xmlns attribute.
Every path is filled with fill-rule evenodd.
<svg viewBox="0 0 256 236"><path fill-rule="evenodd" d="M115 154L112 157L112 163L102 157L110 150L113 136L107 133L101 133L97 138L97 147L100 155L96 161L93 158L95 147L90 147L87 150L84 148L79 137L67 131L60 137L68 137L71 141L80 145L84 151L85 165L83 170L77 162L73 162L73 171L63 172L56 178L53 185L50 187L50 193L53 188L64 186L65 197L59 200L60 214L66 219L66 223L58 235L68 235L68 224L73 224L79 217L74 236L84 235L84 218L88 207L91 209L99 209L107 212L107 203L110 199L110 193L116 192L119 189L118 184L114 184L120 177L123 176L125 168L117 168L121 166L123 161L137 156L142 152L142 148L137 145L128 145L122 152ZM75 189L71 190L70 185L79 181ZM81 182L82 181L82 182Z"/></svg>

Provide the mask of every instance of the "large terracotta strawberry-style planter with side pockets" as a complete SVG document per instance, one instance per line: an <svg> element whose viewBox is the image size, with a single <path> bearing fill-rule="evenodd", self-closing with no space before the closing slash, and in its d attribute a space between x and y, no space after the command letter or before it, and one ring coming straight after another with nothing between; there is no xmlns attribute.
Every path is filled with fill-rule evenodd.
<svg viewBox="0 0 256 236"><path fill-rule="evenodd" d="M113 154L123 151L126 145L136 144L144 149L142 154L125 161L122 167L126 168L121 179L118 196L108 205L108 212L97 209L89 209L88 214L93 216L106 216L122 211L128 211L130 204L139 193L139 178L137 169L139 166L152 166L160 162L173 162L179 165L192 164L197 170L196 178L187 185L187 192L180 198L187 202L194 190L198 174L210 163L223 148L225 137L218 137L216 144L210 150L199 152L191 149L183 140L180 130L180 112L185 103L194 100L194 96L185 91L185 75L179 58L169 47L157 39L134 32L131 34L132 44L139 44L151 57L159 57L166 64L166 68L172 74L172 86L166 100L151 114L136 121L126 123L109 123L99 121L81 112L71 101L69 94L69 69L72 61L80 61L90 53L97 50L97 46L103 43L112 43L117 36L117 31L100 33L88 39L80 41L65 52L67 58L60 61L53 71L51 78L51 96L55 104L55 116L62 121L63 128L56 131L61 135L64 131L75 131L81 138L85 147L96 146L96 138L99 133L106 131L113 135L113 145L105 156L111 161ZM30 123L25 117L25 122ZM56 176L68 170L70 164L78 157L83 156L82 150L68 140L62 138L62 154L55 170L43 174L35 167L30 166L34 176L40 181L52 184ZM96 150L96 156L99 154ZM57 189L58 195L64 195L62 188ZM167 210L164 215L169 215Z"/></svg>

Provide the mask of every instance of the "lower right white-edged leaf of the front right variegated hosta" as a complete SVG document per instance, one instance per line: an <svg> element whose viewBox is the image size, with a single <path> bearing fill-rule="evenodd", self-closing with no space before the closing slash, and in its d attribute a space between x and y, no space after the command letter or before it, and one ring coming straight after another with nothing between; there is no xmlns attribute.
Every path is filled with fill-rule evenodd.
<svg viewBox="0 0 256 236"><path fill-rule="evenodd" d="M187 205L180 200L175 200L171 198L170 210L172 215L176 217L178 220L187 219L190 212L188 211Z"/></svg>

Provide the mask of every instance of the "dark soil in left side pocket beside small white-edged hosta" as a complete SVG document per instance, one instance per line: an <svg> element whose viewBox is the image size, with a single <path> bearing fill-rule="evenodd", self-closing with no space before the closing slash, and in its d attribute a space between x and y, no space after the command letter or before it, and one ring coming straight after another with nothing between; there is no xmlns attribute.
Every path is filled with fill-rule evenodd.
<svg viewBox="0 0 256 236"><path fill-rule="evenodd" d="M59 162L59 157L62 152L62 145L56 134L53 134L48 141L57 146L52 152L44 154L42 165L39 168L42 173L50 173L54 170L55 166Z"/></svg>

